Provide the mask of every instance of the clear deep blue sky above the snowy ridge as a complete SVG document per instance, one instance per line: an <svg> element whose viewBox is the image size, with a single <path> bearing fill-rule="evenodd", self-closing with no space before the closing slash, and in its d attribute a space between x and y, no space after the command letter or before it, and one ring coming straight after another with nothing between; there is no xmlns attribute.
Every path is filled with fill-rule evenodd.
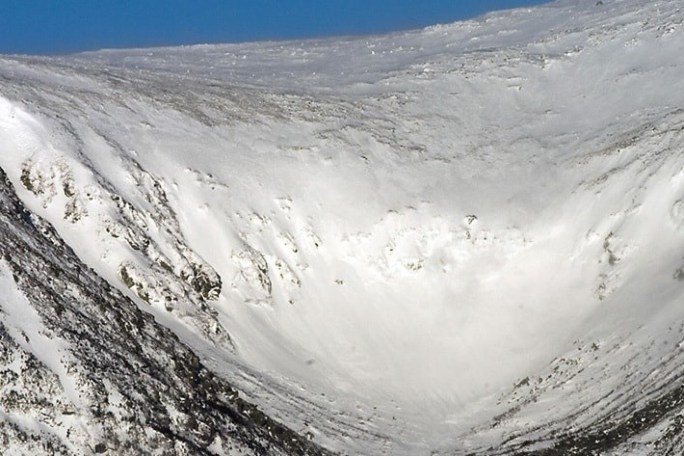
<svg viewBox="0 0 684 456"><path fill-rule="evenodd" d="M0 0L0 53L358 35L543 0Z"/></svg>

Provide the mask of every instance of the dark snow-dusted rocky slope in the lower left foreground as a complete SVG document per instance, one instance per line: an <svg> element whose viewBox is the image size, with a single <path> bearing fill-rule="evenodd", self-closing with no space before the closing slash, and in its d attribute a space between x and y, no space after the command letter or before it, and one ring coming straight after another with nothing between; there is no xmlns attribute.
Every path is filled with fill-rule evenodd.
<svg viewBox="0 0 684 456"><path fill-rule="evenodd" d="M67 347L55 372L27 349L31 335L18 341L0 319L0 453L328 454L242 400L87 269L26 210L2 170L0 240L2 262L43 336Z"/></svg>

